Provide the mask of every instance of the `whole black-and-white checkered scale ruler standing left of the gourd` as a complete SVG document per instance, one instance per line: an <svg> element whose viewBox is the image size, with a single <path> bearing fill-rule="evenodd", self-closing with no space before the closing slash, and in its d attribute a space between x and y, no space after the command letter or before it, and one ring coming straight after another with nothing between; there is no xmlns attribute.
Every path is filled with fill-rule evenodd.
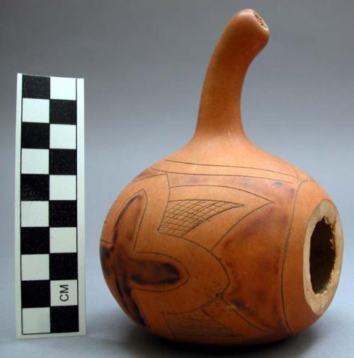
<svg viewBox="0 0 354 358"><path fill-rule="evenodd" d="M16 336L84 335L84 79L18 74Z"/></svg>

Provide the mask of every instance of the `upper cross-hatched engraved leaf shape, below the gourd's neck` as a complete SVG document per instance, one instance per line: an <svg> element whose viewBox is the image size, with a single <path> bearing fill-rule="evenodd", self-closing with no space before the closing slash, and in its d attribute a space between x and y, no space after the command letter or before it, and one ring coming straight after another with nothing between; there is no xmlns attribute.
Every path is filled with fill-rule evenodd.
<svg viewBox="0 0 354 358"><path fill-rule="evenodd" d="M212 216L243 206L243 204L220 200L173 200L167 205L159 231L182 237Z"/></svg>

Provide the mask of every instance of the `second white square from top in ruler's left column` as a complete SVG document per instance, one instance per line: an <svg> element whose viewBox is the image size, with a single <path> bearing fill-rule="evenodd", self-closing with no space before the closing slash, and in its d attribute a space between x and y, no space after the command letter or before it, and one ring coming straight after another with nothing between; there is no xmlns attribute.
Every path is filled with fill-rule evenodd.
<svg viewBox="0 0 354 358"><path fill-rule="evenodd" d="M48 174L49 150L48 149L22 149L21 173L22 174Z"/></svg>

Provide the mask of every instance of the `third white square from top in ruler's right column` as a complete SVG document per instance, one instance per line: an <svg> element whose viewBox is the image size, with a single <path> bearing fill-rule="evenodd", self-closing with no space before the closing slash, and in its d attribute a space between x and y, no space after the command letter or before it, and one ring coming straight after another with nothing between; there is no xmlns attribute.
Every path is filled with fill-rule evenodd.
<svg viewBox="0 0 354 358"><path fill-rule="evenodd" d="M50 200L76 200L76 175L50 175Z"/></svg>

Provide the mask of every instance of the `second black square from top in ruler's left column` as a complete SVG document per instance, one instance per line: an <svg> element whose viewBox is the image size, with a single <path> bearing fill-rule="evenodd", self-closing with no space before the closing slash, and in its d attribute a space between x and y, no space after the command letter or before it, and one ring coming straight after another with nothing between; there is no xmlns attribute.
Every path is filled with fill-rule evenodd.
<svg viewBox="0 0 354 358"><path fill-rule="evenodd" d="M21 147L48 149L50 146L49 123L22 122Z"/></svg>

